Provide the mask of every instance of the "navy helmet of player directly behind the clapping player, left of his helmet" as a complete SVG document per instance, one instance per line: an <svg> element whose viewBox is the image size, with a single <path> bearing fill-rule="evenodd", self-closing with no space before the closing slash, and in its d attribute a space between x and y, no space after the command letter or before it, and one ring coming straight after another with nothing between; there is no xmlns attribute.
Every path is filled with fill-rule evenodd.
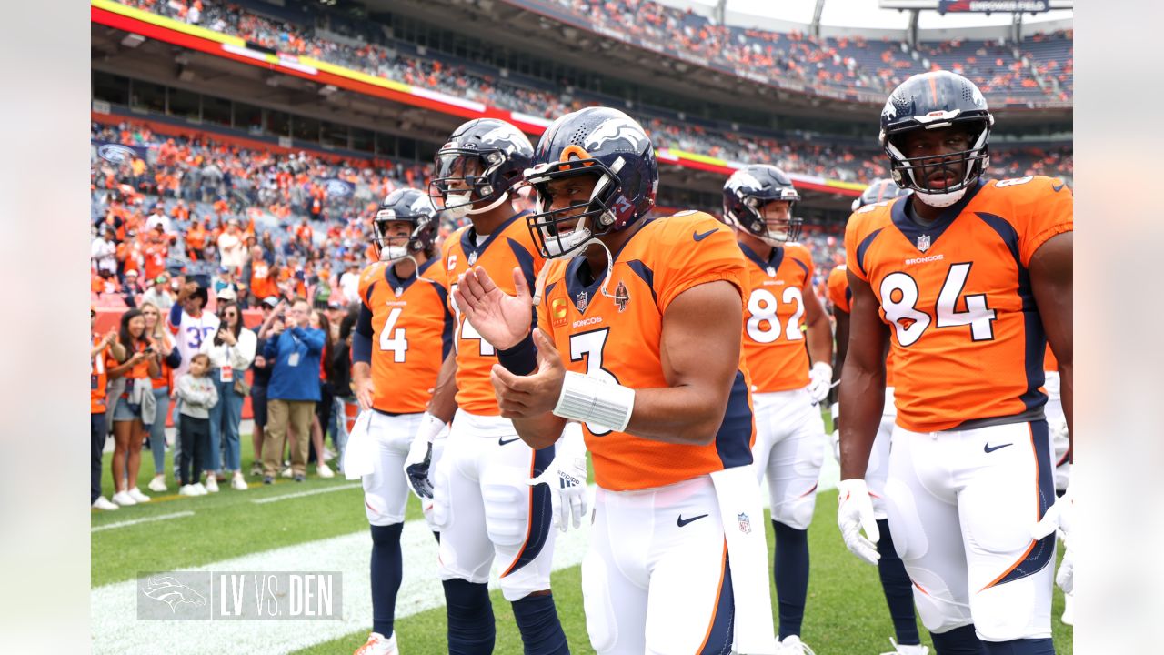
<svg viewBox="0 0 1164 655"><path fill-rule="evenodd" d="M495 118L478 118L453 131L436 152L430 196L440 198L454 219L489 211L509 197L530 168L533 146L520 129Z"/></svg>

